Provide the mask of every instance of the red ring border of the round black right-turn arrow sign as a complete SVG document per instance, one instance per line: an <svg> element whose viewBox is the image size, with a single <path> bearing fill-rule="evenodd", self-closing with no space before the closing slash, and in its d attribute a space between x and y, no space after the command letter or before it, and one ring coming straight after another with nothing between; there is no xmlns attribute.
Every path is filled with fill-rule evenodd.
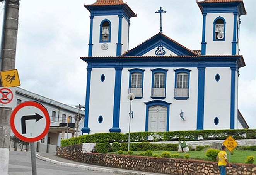
<svg viewBox="0 0 256 175"><path fill-rule="evenodd" d="M25 106L34 106L38 109L40 109L44 116L45 116L45 119L46 119L46 126L44 128L44 131L43 133L41 133L39 136L37 137L34 137L34 138L27 138L27 137L24 137L22 136L15 128L15 125L14 125L14 118L15 118L15 115L17 114L17 112L25 107ZM49 116L49 113L47 111L47 109L40 103L36 102L36 101L25 101L23 103L20 103L15 109L14 111L12 111L12 114L11 114L11 117L10 117L10 126L12 128L12 132L15 134L15 136L17 136L17 138L19 138L20 140L23 140L23 141L26 141L26 142L36 142L38 140L41 140L42 138L44 138L44 136L46 136L46 134L48 133L49 131L49 128L50 128L50 124L51 124L51 121L50 121L50 116Z"/></svg>

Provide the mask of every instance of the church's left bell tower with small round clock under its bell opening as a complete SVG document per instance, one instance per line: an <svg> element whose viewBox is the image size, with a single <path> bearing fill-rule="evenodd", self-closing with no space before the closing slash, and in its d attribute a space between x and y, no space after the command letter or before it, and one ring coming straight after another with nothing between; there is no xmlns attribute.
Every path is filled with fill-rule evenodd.
<svg viewBox="0 0 256 175"><path fill-rule="evenodd" d="M136 14L123 0L96 0L90 11L88 56L120 56L129 45L130 18Z"/></svg>

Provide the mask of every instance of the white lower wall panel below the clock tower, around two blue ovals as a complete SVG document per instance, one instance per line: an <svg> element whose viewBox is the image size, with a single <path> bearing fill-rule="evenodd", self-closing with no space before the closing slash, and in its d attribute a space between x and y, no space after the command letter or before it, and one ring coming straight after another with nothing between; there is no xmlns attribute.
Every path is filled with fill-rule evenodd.
<svg viewBox="0 0 256 175"><path fill-rule="evenodd" d="M100 77L104 74L105 81ZM89 122L90 134L108 132L112 127L114 104L114 68L93 68L90 84ZM99 116L103 117L102 123L98 122Z"/></svg>

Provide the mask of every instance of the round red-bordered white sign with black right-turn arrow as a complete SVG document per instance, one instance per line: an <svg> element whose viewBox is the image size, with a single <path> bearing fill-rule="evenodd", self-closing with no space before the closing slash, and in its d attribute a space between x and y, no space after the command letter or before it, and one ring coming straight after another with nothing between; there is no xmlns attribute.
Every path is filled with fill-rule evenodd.
<svg viewBox="0 0 256 175"><path fill-rule="evenodd" d="M35 142L44 138L50 128L50 116L46 108L36 101L20 103L10 117L13 133L23 141Z"/></svg>

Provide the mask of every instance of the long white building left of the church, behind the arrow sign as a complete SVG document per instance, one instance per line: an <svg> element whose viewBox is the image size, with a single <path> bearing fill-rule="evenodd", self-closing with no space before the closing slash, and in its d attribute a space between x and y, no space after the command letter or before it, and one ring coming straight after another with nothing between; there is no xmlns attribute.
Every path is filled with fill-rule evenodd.
<svg viewBox="0 0 256 175"><path fill-rule="evenodd" d="M70 123L68 124L68 138L74 137L76 131L75 116L78 114L77 108L19 87L16 87L15 92L17 105L24 101L36 101L41 103L47 109L51 119L51 125L48 134L41 140L41 143L60 146L61 139L67 138L67 118L70 119ZM80 117L81 120L79 121L78 129L79 136L82 135L80 129L83 127L84 123L84 110L80 110Z"/></svg>

